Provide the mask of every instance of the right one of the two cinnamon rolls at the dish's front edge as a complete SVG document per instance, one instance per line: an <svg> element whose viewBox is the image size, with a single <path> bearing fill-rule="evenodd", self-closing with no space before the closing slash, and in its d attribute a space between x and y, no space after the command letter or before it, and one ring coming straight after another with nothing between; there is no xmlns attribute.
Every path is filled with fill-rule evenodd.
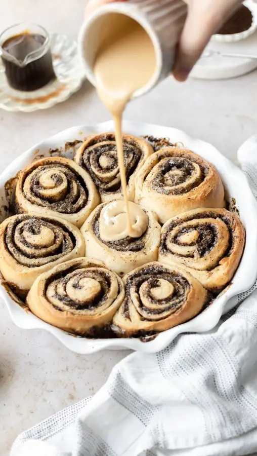
<svg viewBox="0 0 257 456"><path fill-rule="evenodd" d="M113 317L119 336L161 332L195 317L207 291L191 274L157 261L145 264L123 278L125 299Z"/></svg>

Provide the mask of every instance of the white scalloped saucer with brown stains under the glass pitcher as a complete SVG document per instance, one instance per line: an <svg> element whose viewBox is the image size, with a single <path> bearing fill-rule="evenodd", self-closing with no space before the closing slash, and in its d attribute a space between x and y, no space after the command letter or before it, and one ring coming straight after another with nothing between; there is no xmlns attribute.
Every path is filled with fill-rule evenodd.
<svg viewBox="0 0 257 456"><path fill-rule="evenodd" d="M7 111L31 112L47 109L67 100L85 79L77 54L77 43L66 35L50 34L50 46L56 80L38 90L23 92L12 89L4 72L0 72L0 108Z"/></svg>

